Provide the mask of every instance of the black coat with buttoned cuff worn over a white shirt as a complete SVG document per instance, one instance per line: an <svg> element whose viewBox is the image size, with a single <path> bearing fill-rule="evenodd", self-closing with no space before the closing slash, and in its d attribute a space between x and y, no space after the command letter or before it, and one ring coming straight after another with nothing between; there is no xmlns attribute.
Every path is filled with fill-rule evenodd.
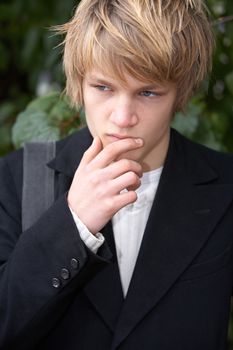
<svg viewBox="0 0 233 350"><path fill-rule="evenodd" d="M58 142L49 164L57 199L23 233L23 152L0 162L0 349L226 349L232 155L172 130L124 300L111 223L95 255L81 241L67 207L66 192L90 143L87 129ZM63 268L68 279L61 277ZM59 288L53 278L60 280Z"/></svg>

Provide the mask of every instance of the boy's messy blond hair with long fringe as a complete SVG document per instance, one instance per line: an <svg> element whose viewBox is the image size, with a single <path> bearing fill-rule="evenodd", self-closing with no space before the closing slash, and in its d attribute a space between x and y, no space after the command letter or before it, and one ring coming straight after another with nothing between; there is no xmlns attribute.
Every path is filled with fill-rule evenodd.
<svg viewBox="0 0 233 350"><path fill-rule="evenodd" d="M214 39L202 0L82 0L59 32L66 34L66 92L76 106L95 68L121 82L127 72L176 83L176 110L183 110L212 65Z"/></svg>

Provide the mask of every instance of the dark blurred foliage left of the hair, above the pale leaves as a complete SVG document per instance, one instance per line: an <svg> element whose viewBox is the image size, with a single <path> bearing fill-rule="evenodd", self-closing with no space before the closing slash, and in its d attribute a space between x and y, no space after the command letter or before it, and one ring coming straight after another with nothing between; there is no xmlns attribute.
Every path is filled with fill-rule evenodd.
<svg viewBox="0 0 233 350"><path fill-rule="evenodd" d="M67 21L76 5L75 0L1 0L0 155L14 148L11 131L18 113L38 95L63 90L61 38L49 28Z"/></svg>

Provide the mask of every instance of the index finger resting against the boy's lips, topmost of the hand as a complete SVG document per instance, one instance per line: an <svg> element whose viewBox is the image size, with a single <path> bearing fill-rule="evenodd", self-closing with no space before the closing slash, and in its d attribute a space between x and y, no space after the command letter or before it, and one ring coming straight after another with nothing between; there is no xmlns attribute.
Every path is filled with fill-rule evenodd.
<svg viewBox="0 0 233 350"><path fill-rule="evenodd" d="M143 146L142 139L126 138L108 144L92 161L94 167L105 168L125 152Z"/></svg>

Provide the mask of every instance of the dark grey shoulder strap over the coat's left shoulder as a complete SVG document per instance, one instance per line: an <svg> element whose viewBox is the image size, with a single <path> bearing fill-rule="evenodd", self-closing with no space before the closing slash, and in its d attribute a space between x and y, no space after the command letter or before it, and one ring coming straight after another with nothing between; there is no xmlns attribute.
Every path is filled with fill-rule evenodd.
<svg viewBox="0 0 233 350"><path fill-rule="evenodd" d="M32 226L54 201L54 171L47 163L55 157L55 142L24 145L22 228Z"/></svg>

